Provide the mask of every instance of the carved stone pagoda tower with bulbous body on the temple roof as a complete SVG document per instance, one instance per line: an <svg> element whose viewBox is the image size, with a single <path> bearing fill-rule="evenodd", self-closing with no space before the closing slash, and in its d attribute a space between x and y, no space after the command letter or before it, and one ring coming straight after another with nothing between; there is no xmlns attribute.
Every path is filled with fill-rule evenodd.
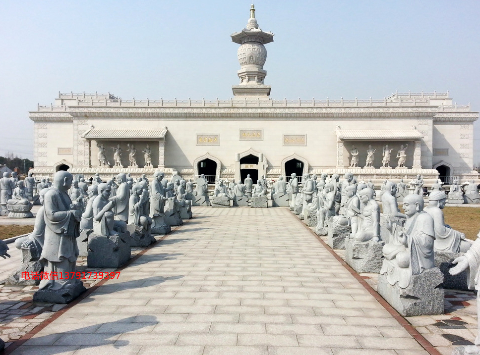
<svg viewBox="0 0 480 355"><path fill-rule="evenodd" d="M237 52L240 70L237 72L240 85L232 86L235 96L268 97L271 86L263 80L267 76L263 64L267 59L265 44L273 42L273 33L264 32L255 18L255 5L250 6L250 18L243 30L231 35L232 42L241 46Z"/></svg>

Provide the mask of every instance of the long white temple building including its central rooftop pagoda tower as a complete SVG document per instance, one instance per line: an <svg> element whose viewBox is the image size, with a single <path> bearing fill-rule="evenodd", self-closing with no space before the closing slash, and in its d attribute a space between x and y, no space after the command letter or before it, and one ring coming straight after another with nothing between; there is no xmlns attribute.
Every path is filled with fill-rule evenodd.
<svg viewBox="0 0 480 355"><path fill-rule="evenodd" d="M439 177L447 183L478 178L473 123L479 113L470 105L435 92L395 93L380 100L273 100L263 66L265 45L274 35L259 28L253 5L246 27L231 37L240 45L240 84L232 87L233 99L121 100L110 93L68 93L29 112L35 175L68 169L85 176L151 176L164 170L184 178L205 174L210 181L219 176L237 181L246 174L276 180L294 172L343 174L348 169L359 180L374 182L408 181L417 174L426 184ZM114 159L118 145L121 165ZM375 150L373 166L362 168L368 145ZM382 167L387 145L391 158ZM406 161L397 167L401 145ZM354 149L359 167L349 168ZM152 166L145 166L148 156Z"/></svg>

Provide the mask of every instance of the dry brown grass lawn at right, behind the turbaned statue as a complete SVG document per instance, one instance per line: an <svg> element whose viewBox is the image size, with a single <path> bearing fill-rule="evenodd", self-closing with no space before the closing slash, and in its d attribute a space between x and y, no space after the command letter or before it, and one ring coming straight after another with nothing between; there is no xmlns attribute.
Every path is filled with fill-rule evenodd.
<svg viewBox="0 0 480 355"><path fill-rule="evenodd" d="M453 229L465 233L468 239L476 240L480 230L480 208L477 207L445 207L443 209L445 223Z"/></svg>

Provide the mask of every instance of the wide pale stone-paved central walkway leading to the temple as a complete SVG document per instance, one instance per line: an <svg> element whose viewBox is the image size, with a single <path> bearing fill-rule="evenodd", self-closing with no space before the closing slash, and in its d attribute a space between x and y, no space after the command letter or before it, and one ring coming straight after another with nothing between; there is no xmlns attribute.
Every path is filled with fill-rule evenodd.
<svg viewBox="0 0 480 355"><path fill-rule="evenodd" d="M428 354L286 208L196 207L61 312L12 354Z"/></svg>

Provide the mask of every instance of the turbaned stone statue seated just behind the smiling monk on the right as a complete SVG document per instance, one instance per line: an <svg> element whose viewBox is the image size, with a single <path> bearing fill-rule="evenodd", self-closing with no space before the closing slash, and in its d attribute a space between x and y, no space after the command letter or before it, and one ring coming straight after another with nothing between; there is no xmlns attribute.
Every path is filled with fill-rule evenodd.
<svg viewBox="0 0 480 355"><path fill-rule="evenodd" d="M445 225L443 217L443 207L447 195L443 191L434 190L428 196L428 205L423 209L433 218L433 227L435 230L435 242L433 247L435 251L447 253L465 253L470 248L470 242L466 241L465 234Z"/></svg>

